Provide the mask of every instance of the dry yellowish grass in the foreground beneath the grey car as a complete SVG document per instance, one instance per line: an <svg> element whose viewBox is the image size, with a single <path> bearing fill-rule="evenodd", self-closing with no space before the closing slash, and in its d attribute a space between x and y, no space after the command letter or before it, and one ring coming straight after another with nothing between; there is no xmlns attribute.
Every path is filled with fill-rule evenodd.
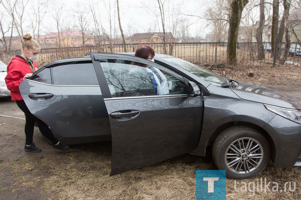
<svg viewBox="0 0 301 200"><path fill-rule="evenodd" d="M195 199L195 170L216 169L210 155L199 157L185 154L110 177L110 149L110 144L100 142L74 145L69 152L47 155L43 159L18 158L10 163L15 174L14 183L8 189L18 192L23 188L32 188L44 194L55 194L47 195L45 199ZM270 192L261 191L260 178L266 178L267 183L277 182L278 192L272 191L272 186L275 186L272 183ZM270 163L252 179L227 178L226 197L300 199L300 179L299 168L277 168ZM242 182L246 183L246 188L242 188ZM257 182L259 190L256 188ZM286 182L296 182L296 190L284 192Z"/></svg>

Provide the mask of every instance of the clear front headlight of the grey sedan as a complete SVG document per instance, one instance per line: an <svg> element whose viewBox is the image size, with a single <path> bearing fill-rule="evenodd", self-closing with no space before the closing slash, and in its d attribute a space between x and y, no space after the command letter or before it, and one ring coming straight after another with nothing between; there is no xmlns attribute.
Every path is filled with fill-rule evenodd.
<svg viewBox="0 0 301 200"><path fill-rule="evenodd" d="M264 105L265 108L275 114L280 115L288 120L301 124L301 110L280 108L277 106Z"/></svg>

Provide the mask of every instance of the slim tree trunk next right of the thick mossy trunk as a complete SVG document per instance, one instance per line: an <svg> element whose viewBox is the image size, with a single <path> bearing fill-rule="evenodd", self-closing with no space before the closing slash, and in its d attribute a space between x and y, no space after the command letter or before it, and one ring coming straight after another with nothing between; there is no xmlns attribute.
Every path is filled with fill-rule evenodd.
<svg viewBox="0 0 301 200"><path fill-rule="evenodd" d="M265 23L265 17L264 17L264 0L260 0L260 8L259 8L259 26L256 30L256 41L259 44L257 47L257 59L262 60L265 59L265 53L262 45L262 32L264 28Z"/></svg>

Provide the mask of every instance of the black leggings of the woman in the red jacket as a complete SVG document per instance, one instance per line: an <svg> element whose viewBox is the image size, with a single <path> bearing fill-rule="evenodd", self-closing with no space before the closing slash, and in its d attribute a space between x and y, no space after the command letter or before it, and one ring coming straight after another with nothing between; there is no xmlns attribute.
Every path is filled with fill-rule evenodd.
<svg viewBox="0 0 301 200"><path fill-rule="evenodd" d="M28 110L25 102L22 101L16 101L17 106L25 113L25 135L26 135L26 143L27 145L30 145L33 143L33 130L35 126L35 122L38 124L40 132L42 135L45 136L49 141L52 142L52 144L57 144L58 140L53 135L51 129L48 127L47 124L45 124L42 120L35 117L31 112Z"/></svg>

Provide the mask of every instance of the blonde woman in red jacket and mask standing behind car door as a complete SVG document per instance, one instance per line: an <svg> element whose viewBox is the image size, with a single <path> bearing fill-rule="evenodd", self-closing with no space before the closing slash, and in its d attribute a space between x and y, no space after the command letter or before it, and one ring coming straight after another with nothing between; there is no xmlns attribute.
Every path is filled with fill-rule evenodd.
<svg viewBox="0 0 301 200"><path fill-rule="evenodd" d="M52 142L53 148L64 151L69 149L69 147L67 145L61 144L53 135L48 125L31 114L20 94L20 83L24 79L31 77L33 75L33 72L39 69L36 63L34 63L33 61L36 59L39 53L40 46L37 41L31 38L32 36L29 33L23 36L23 53L21 56L17 55L13 59L11 59L11 62L7 65L7 75L5 77L6 86L11 91L11 100L16 101L18 107L25 113L26 143L24 150L32 152L42 151L40 148L35 146L35 143L33 143L33 131L36 122L41 133L49 141Z"/></svg>

